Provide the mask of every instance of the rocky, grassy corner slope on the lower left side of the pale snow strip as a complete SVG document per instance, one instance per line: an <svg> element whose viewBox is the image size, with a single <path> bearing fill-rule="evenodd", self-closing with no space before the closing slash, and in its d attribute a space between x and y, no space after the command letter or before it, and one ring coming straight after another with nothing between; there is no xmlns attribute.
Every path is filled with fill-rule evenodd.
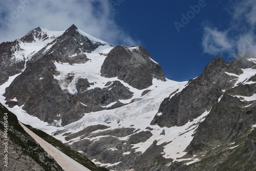
<svg viewBox="0 0 256 171"><path fill-rule="evenodd" d="M18 124L16 115L2 104L0 104L0 135L0 170L62 170L58 163ZM4 158L6 156L7 158Z"/></svg>

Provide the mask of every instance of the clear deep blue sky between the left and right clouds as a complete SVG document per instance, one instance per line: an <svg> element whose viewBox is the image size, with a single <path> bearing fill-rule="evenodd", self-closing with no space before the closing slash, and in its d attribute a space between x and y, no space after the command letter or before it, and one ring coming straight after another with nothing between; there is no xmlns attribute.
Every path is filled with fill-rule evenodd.
<svg viewBox="0 0 256 171"><path fill-rule="evenodd" d="M200 8L198 8L199 3L202 3ZM220 32L231 29L233 10L238 6L239 3L227 0L146 1L146 3L124 1L116 6L116 11L119 26L141 40L142 45L162 65L166 77L185 81L202 74L206 64L217 56L224 57L228 61L236 58L236 53L231 52L233 50L205 53L203 37L207 27L211 31L216 28ZM196 9L196 12L192 9ZM188 18L188 23L183 21L186 25L182 24L182 14L190 15L191 19ZM179 24L175 26L176 21L183 26L180 27ZM239 29L232 31L234 34L240 34Z"/></svg>

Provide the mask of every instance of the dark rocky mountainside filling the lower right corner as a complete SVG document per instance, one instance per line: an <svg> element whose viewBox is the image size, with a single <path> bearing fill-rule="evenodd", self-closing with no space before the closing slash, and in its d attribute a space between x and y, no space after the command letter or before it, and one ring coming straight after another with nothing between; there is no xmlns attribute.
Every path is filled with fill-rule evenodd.
<svg viewBox="0 0 256 171"><path fill-rule="evenodd" d="M252 67L250 62L239 61L240 67ZM231 69L231 68L230 68ZM249 79L254 80L254 76ZM249 82L249 80L245 82ZM244 82L244 83L245 83ZM198 126L186 151L204 155L201 160L176 170L254 170L255 162L255 101L246 101L256 93L256 84L229 87Z"/></svg>

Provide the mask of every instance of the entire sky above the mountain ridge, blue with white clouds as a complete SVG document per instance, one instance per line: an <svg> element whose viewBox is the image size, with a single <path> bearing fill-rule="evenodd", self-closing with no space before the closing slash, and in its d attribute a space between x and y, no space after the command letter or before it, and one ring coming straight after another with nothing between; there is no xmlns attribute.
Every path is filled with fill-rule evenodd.
<svg viewBox="0 0 256 171"><path fill-rule="evenodd" d="M0 42L74 23L112 45L144 46L175 81L199 76L217 56L256 54L254 0L10 0L0 15Z"/></svg>

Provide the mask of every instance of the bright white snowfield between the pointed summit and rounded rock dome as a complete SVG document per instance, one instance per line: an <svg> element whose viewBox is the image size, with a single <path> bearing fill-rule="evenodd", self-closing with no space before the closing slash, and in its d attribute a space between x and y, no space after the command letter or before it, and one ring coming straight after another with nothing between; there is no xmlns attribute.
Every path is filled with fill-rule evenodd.
<svg viewBox="0 0 256 171"><path fill-rule="evenodd" d="M99 55L100 53L109 53L112 50L112 46L104 45L99 46L92 53L84 53L90 60L86 63L79 63L70 65L69 63L58 63L55 61L56 70L60 72L58 76L54 76L62 90L68 90L70 94L76 94L76 83L81 78L86 78L91 85L88 90L99 87L103 88L105 82L110 81L108 78L100 76L100 68L105 60L105 56ZM71 83L67 83L66 79L70 75L74 76ZM113 81L116 79L112 79Z"/></svg>

